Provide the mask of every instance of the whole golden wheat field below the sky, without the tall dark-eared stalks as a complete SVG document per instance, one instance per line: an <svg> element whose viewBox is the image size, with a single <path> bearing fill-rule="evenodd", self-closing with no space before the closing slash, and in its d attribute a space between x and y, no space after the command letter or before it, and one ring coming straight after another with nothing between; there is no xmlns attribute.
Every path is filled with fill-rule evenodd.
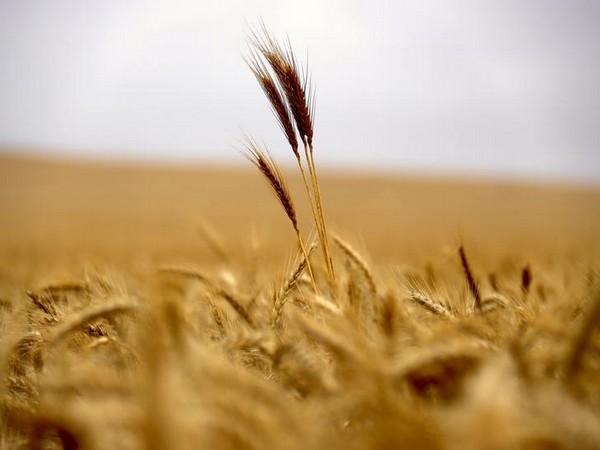
<svg viewBox="0 0 600 450"><path fill-rule="evenodd" d="M597 188L320 179L1 156L0 447L600 448Z"/></svg>

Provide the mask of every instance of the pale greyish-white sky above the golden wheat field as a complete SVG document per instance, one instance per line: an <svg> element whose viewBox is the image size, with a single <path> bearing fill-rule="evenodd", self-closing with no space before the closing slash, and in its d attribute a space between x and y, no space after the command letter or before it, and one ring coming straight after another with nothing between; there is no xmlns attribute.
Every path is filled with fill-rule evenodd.
<svg viewBox="0 0 600 450"><path fill-rule="evenodd" d="M600 184L595 0L0 0L0 147L293 162L245 34L308 57L327 167Z"/></svg>

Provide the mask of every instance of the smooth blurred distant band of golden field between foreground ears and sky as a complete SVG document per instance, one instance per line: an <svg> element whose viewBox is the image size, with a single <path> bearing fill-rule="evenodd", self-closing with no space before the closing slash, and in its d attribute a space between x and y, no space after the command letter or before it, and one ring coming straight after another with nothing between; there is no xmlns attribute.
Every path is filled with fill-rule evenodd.
<svg viewBox="0 0 600 450"><path fill-rule="evenodd" d="M248 165L249 166L249 165ZM288 175L309 229L299 177ZM286 173L287 174L287 173ZM549 184L325 174L327 220L375 263L422 263L462 240L492 259L598 257L600 192ZM160 168L0 159L0 249L19 261L107 256L214 258L202 228L229 251L253 240L281 265L293 233L260 175L248 168ZM304 201L304 203L303 203ZM5 259L5 258L3 258ZM591 261L590 261L591 263Z"/></svg>

